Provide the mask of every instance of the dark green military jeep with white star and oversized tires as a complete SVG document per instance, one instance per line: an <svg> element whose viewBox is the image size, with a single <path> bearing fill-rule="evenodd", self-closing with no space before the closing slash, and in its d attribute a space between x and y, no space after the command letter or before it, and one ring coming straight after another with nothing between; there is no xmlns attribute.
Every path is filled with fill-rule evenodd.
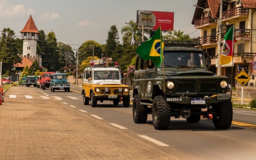
<svg viewBox="0 0 256 160"><path fill-rule="evenodd" d="M200 121L212 114L218 129L230 127L233 117L228 78L207 68L211 58L200 41L164 42L164 61L156 68L151 60L136 60L132 115L135 123L146 123L152 114L155 129L168 129L170 118Z"/></svg>

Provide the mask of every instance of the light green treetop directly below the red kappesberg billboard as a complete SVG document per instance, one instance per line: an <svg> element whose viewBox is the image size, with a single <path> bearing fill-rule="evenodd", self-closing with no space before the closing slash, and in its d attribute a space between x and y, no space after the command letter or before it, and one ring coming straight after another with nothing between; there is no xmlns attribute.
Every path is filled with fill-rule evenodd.
<svg viewBox="0 0 256 160"><path fill-rule="evenodd" d="M168 30L167 35L163 36L163 40L178 40L178 41L184 41L184 40L191 40L190 36L188 34L184 34L184 31L176 31L176 30Z"/></svg>

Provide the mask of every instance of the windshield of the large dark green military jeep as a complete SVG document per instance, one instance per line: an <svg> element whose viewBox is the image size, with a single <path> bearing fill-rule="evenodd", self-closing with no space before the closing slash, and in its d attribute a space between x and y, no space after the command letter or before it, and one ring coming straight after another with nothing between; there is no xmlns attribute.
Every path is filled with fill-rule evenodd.
<svg viewBox="0 0 256 160"><path fill-rule="evenodd" d="M193 52L165 52L164 66L189 66L204 68L204 60L202 53ZM162 65L160 67L163 67Z"/></svg>

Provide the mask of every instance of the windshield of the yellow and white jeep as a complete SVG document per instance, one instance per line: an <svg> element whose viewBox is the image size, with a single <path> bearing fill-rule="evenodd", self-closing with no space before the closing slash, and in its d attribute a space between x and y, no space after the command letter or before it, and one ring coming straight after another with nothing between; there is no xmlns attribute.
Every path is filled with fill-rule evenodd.
<svg viewBox="0 0 256 160"><path fill-rule="evenodd" d="M94 79L120 79L118 71L95 71Z"/></svg>

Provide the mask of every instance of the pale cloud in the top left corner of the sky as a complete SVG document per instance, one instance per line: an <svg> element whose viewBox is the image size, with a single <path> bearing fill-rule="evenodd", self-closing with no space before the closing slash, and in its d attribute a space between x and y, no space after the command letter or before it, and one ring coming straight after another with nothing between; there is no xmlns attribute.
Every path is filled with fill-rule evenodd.
<svg viewBox="0 0 256 160"><path fill-rule="evenodd" d="M7 0L2 0L0 2L0 18L19 18L24 15L33 14L34 12L35 11L33 9L26 9L23 4L11 5Z"/></svg>

